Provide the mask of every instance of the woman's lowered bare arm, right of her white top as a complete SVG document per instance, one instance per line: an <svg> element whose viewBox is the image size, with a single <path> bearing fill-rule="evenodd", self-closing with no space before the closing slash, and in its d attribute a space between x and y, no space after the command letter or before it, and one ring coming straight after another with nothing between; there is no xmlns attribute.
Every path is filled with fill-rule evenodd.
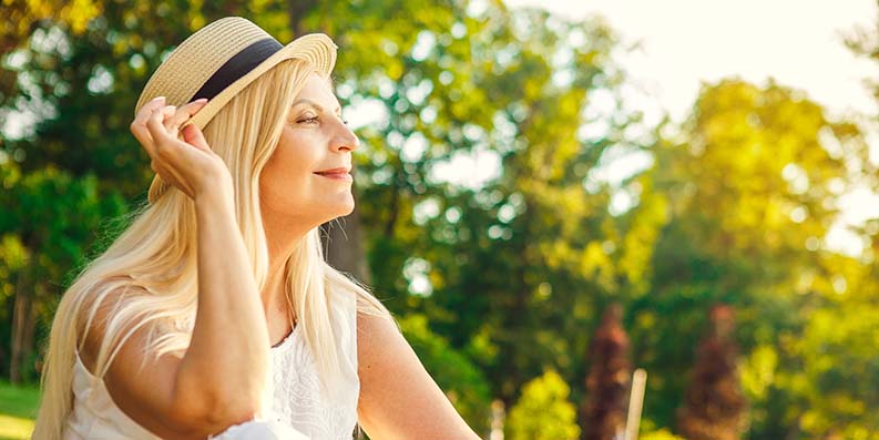
<svg viewBox="0 0 879 440"><path fill-rule="evenodd" d="M474 440L393 323L357 316L360 427L375 440Z"/></svg>

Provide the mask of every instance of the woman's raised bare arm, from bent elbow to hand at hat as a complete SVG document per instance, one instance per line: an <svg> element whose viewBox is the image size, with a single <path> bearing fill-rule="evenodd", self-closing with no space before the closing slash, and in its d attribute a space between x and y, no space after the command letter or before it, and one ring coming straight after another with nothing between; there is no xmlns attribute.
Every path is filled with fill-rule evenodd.
<svg viewBox="0 0 879 440"><path fill-rule="evenodd" d="M190 129L186 137L194 146L184 144L176 139L175 122L168 121L185 121L201 105L185 109L182 115L183 108L177 113L176 109L164 108L164 122L161 114L147 109L150 105L160 106L147 104L144 111L152 116L139 114L132 132L150 151L160 175L194 199L198 308L185 354L154 360L143 349L142 330L122 346L105 383L116 405L154 433L167 439L204 439L251 419L259 409L268 330L235 218L231 180L215 170L219 157L209 152L200 132ZM144 126L135 125L144 120ZM166 152L156 152L157 145ZM100 347L102 328L94 329L98 331L90 331L86 338L88 358ZM140 369L144 358L146 368Z"/></svg>

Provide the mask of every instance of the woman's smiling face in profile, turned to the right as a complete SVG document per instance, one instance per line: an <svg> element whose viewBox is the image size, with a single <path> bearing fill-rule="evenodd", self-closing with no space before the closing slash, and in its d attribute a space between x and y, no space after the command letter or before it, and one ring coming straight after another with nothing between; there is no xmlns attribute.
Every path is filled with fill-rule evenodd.
<svg viewBox="0 0 879 440"><path fill-rule="evenodd" d="M329 81L313 73L259 177L264 216L316 226L351 213L351 153L360 141L340 112Z"/></svg>

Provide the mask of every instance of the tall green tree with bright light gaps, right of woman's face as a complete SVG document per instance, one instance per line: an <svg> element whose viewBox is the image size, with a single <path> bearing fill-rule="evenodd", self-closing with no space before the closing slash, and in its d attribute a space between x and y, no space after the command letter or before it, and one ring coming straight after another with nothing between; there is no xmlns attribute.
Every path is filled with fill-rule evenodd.
<svg viewBox="0 0 879 440"><path fill-rule="evenodd" d="M586 111L593 100L615 102L623 81L610 57L616 37L601 21L491 6L451 17L419 37L430 49L423 61L408 64L421 43L398 48L406 68L382 98L393 100L387 131L375 144L365 136L361 218L369 259L382 263L372 265L377 291L396 310L428 316L509 407L545 366L582 380L586 344L569 335L587 334L600 298L631 284L602 250L630 224L607 214L610 188L583 182L612 160L605 152L641 149L622 140L637 115ZM376 89L381 95L381 82ZM589 137L578 130L585 122L606 130ZM497 161L501 172L472 184L436 176L468 156ZM648 255L635 252L648 241L627 244L620 248L632 263Z"/></svg>

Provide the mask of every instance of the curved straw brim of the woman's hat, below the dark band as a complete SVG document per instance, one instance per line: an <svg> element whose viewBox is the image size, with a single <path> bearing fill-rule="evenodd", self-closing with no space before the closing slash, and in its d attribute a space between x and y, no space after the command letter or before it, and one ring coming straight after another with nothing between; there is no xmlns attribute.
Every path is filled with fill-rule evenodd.
<svg viewBox="0 0 879 440"><path fill-rule="evenodd" d="M200 130L204 129L211 120L225 106L235 95L241 93L244 88L254 82L257 78L266 73L284 60L299 59L314 66L314 70L325 76L333 73L336 65L336 44L323 33L310 33L299 37L287 45L272 54L256 68L247 72L244 76L223 89L211 99L198 112L184 122L181 129L186 125L195 125ZM167 190L171 188L159 175L153 177L147 193L150 203L155 203Z"/></svg>

